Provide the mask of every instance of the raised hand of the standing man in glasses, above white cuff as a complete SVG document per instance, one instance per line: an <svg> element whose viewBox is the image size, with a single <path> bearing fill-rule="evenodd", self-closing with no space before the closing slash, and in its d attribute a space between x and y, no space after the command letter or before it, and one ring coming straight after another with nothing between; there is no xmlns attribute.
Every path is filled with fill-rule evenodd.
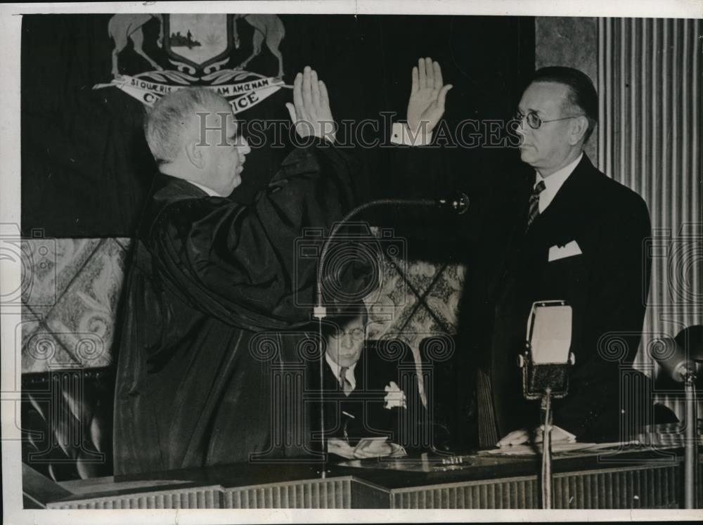
<svg viewBox="0 0 703 525"><path fill-rule="evenodd" d="M408 101L408 127L417 133L430 133L444 115L446 93L451 84L444 85L441 67L432 58L420 58L413 67L413 84Z"/></svg>

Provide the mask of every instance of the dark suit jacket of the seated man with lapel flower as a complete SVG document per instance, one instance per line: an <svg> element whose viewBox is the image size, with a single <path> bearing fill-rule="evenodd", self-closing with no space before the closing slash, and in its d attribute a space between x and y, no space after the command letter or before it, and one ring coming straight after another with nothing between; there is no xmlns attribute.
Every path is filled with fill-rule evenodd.
<svg viewBox="0 0 703 525"><path fill-rule="evenodd" d="M319 384L317 367L314 363L312 376ZM429 429L425 422L427 411L420 398L413 352L406 344L366 342L354 368L354 377L356 388L345 396L332 369L324 363L325 436L344 438L346 430L352 446L361 438L387 436L388 441L408 451L426 448L429 438L423 438L423 432ZM390 382L404 391L405 407L386 408L385 388Z"/></svg>

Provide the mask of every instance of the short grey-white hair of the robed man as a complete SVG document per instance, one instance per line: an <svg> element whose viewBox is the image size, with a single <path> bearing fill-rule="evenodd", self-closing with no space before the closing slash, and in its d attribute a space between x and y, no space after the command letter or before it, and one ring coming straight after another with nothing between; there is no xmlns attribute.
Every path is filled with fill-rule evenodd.
<svg viewBox="0 0 703 525"><path fill-rule="evenodd" d="M204 87L179 89L157 101L144 122L146 142L156 162L175 160L181 148L181 130L198 111L223 103L229 105L226 98Z"/></svg>

